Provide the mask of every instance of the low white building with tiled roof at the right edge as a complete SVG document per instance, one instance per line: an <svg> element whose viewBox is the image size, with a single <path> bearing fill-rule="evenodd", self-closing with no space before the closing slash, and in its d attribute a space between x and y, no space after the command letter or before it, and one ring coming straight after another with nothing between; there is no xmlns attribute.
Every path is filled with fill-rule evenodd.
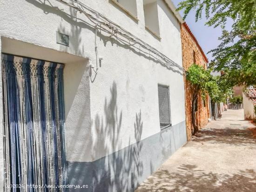
<svg viewBox="0 0 256 192"><path fill-rule="evenodd" d="M243 93L243 111L244 119L255 119L255 106L256 106L256 89L249 87L246 93Z"/></svg>

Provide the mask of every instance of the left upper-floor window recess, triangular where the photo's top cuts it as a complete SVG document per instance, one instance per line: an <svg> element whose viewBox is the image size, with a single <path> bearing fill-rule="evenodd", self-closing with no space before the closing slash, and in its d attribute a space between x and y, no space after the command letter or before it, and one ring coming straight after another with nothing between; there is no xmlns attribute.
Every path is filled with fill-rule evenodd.
<svg viewBox="0 0 256 192"><path fill-rule="evenodd" d="M112 0L112 1L117 6L121 7L126 13L132 16L135 20L138 20L136 0Z"/></svg>

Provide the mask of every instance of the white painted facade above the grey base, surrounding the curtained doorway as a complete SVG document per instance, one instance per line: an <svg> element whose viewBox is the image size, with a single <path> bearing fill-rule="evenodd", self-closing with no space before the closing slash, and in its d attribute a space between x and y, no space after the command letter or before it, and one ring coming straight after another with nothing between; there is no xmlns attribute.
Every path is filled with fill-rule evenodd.
<svg viewBox="0 0 256 192"><path fill-rule="evenodd" d="M145 30L143 0L136 2L138 21L111 0L81 1L182 66L180 23L164 0L157 1L161 40ZM57 0L1 0L0 13L0 52L65 64L67 161L92 162L159 133L158 84L169 86L172 125L185 121L182 74L150 54L98 34L103 60L98 73L90 73L89 65L96 65L94 26L85 15ZM57 31L69 35L69 46L56 43ZM2 173L1 127L0 133Z"/></svg>

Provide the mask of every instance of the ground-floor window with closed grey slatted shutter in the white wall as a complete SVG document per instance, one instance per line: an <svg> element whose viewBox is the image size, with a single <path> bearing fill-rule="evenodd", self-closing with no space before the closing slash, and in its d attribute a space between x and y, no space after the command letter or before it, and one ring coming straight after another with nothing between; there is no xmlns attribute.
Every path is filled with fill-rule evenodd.
<svg viewBox="0 0 256 192"><path fill-rule="evenodd" d="M158 106L160 128L171 126L169 87L158 84Z"/></svg>

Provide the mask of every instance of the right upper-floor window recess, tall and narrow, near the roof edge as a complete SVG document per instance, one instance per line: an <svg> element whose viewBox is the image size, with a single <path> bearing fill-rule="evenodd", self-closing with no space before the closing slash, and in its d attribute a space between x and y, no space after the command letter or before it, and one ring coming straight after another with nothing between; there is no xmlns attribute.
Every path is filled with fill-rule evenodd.
<svg viewBox="0 0 256 192"><path fill-rule="evenodd" d="M160 38L157 1L156 0L143 0L145 27L155 36Z"/></svg>

